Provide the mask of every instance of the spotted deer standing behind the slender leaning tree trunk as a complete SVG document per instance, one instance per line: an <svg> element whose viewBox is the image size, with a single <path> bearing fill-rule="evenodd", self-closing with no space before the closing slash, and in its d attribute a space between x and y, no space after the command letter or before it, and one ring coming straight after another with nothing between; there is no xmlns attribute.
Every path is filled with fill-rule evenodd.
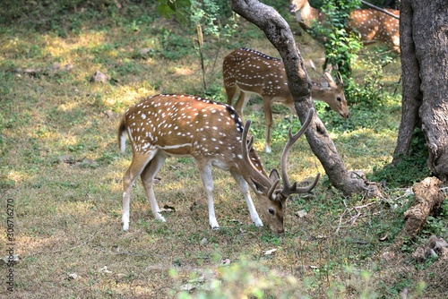
<svg viewBox="0 0 448 299"><path fill-rule="evenodd" d="M247 48L238 48L224 57L222 76L227 94L227 104L239 90L235 104L237 114L243 116L243 110L252 94L263 98L264 120L266 126L266 152L271 152L272 104L280 102L288 107L291 113L297 114L294 100L289 91L283 61ZM330 73L323 73L321 83L313 82L311 96L327 103L332 110L342 117L349 117L349 107L344 96L344 84L336 84Z"/></svg>

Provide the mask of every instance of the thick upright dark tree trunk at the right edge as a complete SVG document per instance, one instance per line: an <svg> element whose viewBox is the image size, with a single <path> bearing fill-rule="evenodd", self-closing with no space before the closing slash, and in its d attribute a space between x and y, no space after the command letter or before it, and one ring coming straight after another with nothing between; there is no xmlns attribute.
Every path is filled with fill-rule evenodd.
<svg viewBox="0 0 448 299"><path fill-rule="evenodd" d="M402 115L392 163L407 156L421 123L429 169L448 179L448 2L401 1ZM401 155L402 154L402 155Z"/></svg>

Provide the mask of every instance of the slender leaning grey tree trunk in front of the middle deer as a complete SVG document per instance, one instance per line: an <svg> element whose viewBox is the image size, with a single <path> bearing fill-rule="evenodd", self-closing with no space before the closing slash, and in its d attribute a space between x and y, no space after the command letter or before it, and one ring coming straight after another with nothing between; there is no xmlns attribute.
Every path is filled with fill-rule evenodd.
<svg viewBox="0 0 448 299"><path fill-rule="evenodd" d="M296 47L289 24L271 6L256 0L232 0L232 9L263 30L272 45L279 50L285 63L289 90L294 98L297 115L303 123L308 110L314 107L311 99L311 81L304 69L303 59ZM367 185L361 177L347 170L317 115L306 130L306 139L314 155L321 161L333 186L345 194L358 192L370 196L381 195L375 184Z"/></svg>

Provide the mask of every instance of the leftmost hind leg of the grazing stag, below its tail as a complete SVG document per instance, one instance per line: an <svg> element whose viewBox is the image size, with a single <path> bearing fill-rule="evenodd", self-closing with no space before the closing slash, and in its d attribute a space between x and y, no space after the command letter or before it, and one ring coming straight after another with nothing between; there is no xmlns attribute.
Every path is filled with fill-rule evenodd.
<svg viewBox="0 0 448 299"><path fill-rule="evenodd" d="M121 222L125 232L129 229L129 206L133 184L135 183L137 176L142 173L143 169L150 163L151 158L153 158L155 154L156 151L151 151L147 154L134 153L131 166L127 169L123 177L123 216Z"/></svg>

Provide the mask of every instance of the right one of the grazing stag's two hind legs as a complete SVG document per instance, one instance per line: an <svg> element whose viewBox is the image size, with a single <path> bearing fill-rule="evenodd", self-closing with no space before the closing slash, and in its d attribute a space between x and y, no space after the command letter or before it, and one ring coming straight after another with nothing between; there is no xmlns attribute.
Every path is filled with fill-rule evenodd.
<svg viewBox="0 0 448 299"><path fill-rule="evenodd" d="M146 197L150 201L150 206L154 218L165 222L165 218L160 214L159 204L157 203L156 197L154 195L154 189L152 188L153 180L156 174L159 172L160 167L163 166L166 156L160 151L151 159L151 162L142 171L142 183L144 191L146 192Z"/></svg>

